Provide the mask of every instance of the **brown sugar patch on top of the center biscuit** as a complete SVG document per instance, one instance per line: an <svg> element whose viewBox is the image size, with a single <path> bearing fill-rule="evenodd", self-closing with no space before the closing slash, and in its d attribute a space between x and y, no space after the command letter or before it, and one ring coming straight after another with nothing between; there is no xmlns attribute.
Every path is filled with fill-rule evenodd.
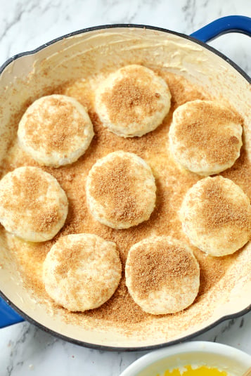
<svg viewBox="0 0 251 376"><path fill-rule="evenodd" d="M139 181L140 180L140 181ZM137 187L144 179L137 179L131 174L131 162L117 156L110 164L96 167L92 179L91 195L105 205L108 219L131 221L139 218L142 213L142 202Z"/></svg>

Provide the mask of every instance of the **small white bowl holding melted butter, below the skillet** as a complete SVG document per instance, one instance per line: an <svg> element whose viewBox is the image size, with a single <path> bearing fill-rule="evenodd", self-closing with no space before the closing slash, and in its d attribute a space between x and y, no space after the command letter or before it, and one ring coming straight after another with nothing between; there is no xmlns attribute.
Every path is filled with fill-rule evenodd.
<svg viewBox="0 0 251 376"><path fill-rule="evenodd" d="M251 356L225 344L186 342L153 351L129 365L120 376L155 376L184 365L207 365L242 376L251 367Z"/></svg>

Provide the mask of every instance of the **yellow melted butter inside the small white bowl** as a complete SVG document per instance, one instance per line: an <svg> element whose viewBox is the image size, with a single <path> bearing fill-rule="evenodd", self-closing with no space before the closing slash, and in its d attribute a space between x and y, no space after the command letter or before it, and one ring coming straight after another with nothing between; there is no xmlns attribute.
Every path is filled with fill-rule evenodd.
<svg viewBox="0 0 251 376"><path fill-rule="evenodd" d="M182 368L175 368L174 370L166 370L164 374L156 376L230 376L226 371L220 371L218 368L209 368L202 365L198 368L192 368L191 365L185 365Z"/></svg>

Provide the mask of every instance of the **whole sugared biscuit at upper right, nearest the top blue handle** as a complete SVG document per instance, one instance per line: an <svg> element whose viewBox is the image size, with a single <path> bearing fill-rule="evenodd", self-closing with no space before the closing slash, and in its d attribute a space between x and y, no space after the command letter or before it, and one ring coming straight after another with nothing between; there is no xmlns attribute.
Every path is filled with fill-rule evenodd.
<svg viewBox="0 0 251 376"><path fill-rule="evenodd" d="M174 159L202 176L218 174L240 157L243 120L216 101L191 101L174 111L169 129Z"/></svg>

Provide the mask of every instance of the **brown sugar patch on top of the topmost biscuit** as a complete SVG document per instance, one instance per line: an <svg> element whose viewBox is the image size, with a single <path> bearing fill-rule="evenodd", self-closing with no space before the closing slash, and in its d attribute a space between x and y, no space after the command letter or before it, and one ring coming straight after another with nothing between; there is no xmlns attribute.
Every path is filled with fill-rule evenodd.
<svg viewBox="0 0 251 376"><path fill-rule="evenodd" d="M102 100L111 122L140 122L144 117L162 109L162 104L157 101L160 94L151 89L149 80L146 72L134 70L129 76L118 79L112 91L103 93Z"/></svg>

